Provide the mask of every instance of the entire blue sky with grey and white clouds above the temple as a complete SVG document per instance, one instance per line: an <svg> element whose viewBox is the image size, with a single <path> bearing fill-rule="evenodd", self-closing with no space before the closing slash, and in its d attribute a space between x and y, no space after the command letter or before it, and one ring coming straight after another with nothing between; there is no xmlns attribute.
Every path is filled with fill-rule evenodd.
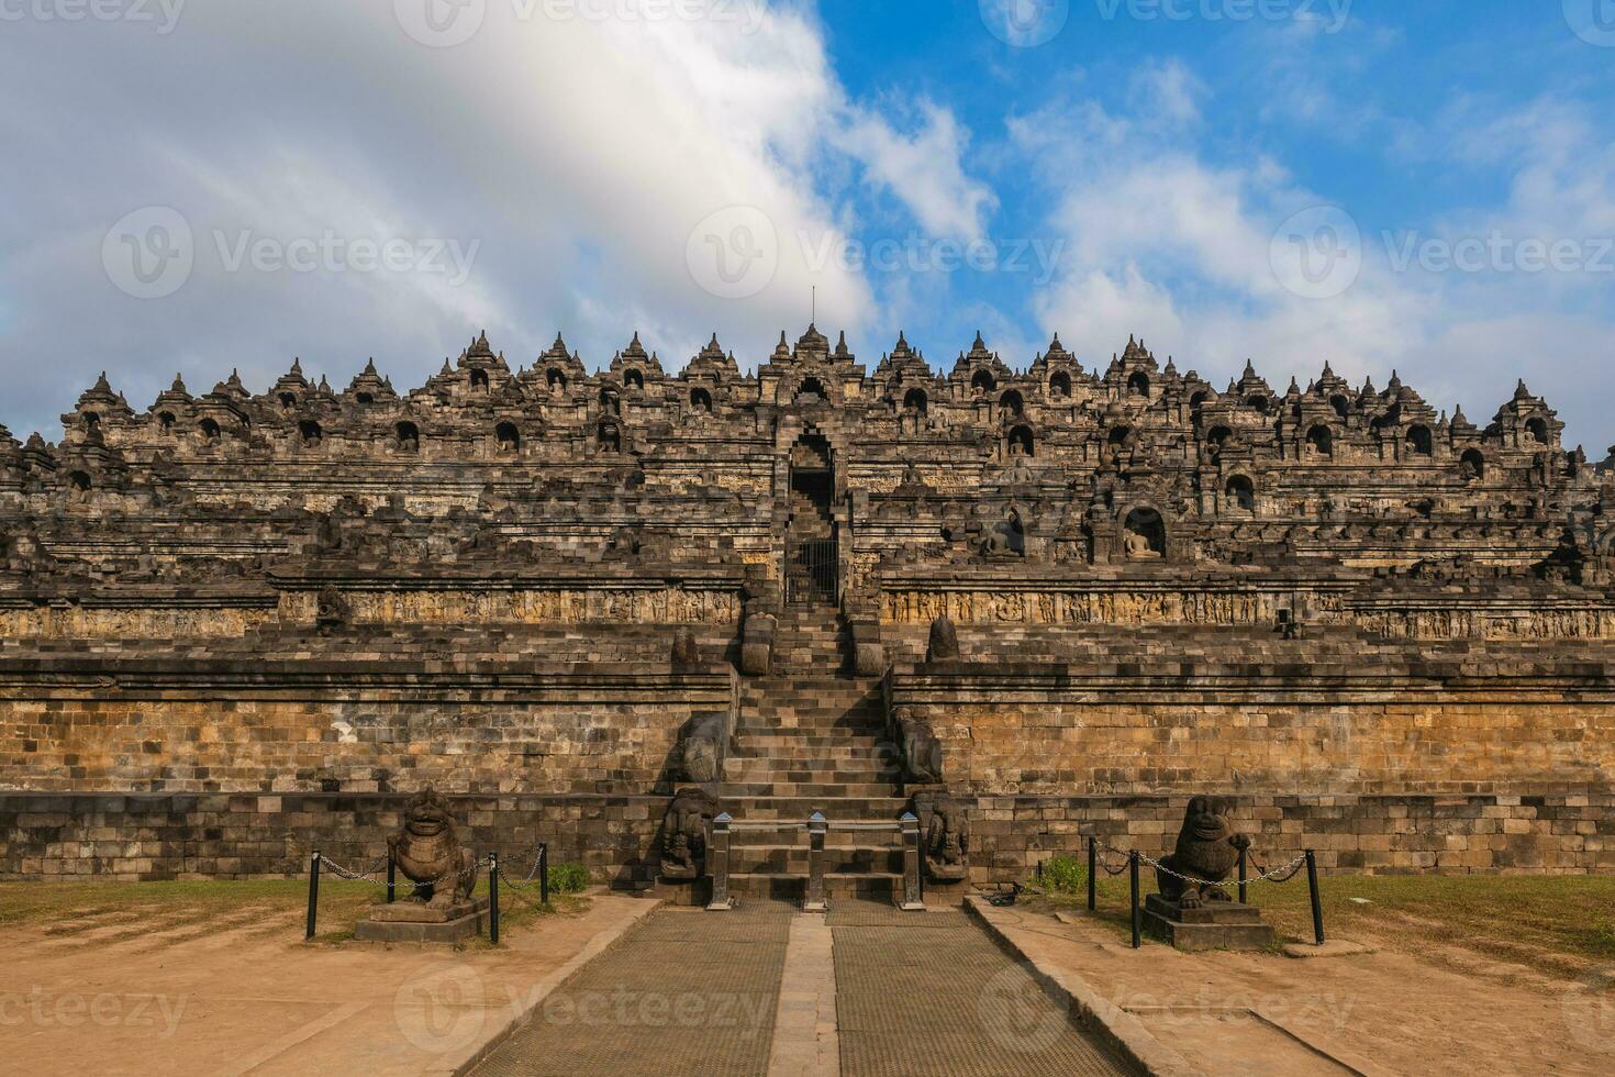
<svg viewBox="0 0 1615 1077"><path fill-rule="evenodd" d="M0 0L0 421L402 389L478 329L743 367L1129 333L1615 442L1607 0Z"/></svg>

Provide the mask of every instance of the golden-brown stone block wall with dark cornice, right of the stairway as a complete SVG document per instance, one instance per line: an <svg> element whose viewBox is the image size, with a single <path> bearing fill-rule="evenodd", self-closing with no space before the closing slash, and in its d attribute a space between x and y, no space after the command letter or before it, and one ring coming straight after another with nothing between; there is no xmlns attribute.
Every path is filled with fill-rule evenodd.
<svg viewBox="0 0 1615 1077"><path fill-rule="evenodd" d="M979 796L1615 790L1602 664L945 662L898 667L890 701Z"/></svg>

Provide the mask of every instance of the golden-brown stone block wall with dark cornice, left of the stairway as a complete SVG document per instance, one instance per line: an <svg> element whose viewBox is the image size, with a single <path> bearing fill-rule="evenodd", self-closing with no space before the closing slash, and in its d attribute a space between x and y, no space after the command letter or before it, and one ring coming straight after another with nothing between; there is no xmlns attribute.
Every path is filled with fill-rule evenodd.
<svg viewBox="0 0 1615 1077"><path fill-rule="evenodd" d="M95 662L0 675L0 790L670 791L728 665Z"/></svg>

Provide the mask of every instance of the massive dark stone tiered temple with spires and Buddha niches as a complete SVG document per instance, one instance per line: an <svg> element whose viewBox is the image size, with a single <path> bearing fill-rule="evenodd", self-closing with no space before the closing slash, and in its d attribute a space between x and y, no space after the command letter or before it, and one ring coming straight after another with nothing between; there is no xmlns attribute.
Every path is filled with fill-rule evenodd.
<svg viewBox="0 0 1615 1077"><path fill-rule="evenodd" d="M373 857L428 783L622 886L699 878L719 811L735 890L822 812L879 891L837 823L990 883L1192 793L1324 870L1615 865L1615 467L1523 383L1476 423L1142 341L759 358L478 337L404 394L103 376L0 430L0 877Z"/></svg>

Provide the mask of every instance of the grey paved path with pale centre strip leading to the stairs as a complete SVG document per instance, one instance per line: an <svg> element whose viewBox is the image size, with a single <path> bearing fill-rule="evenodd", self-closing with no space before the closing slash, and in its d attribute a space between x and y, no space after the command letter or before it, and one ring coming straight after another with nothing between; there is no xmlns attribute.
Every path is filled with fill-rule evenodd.
<svg viewBox="0 0 1615 1077"><path fill-rule="evenodd" d="M1087 1077L1129 1072L963 911L661 909L478 1077Z"/></svg>

